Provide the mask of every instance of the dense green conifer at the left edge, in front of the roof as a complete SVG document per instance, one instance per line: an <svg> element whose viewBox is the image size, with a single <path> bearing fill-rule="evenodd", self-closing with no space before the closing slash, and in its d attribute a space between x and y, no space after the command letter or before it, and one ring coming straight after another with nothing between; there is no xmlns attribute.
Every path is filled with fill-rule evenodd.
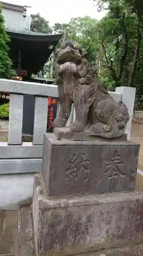
<svg viewBox="0 0 143 256"><path fill-rule="evenodd" d="M15 72L12 70L12 61L8 55L9 41L10 39L4 27L4 18L0 4L0 78L10 79L15 75Z"/></svg>

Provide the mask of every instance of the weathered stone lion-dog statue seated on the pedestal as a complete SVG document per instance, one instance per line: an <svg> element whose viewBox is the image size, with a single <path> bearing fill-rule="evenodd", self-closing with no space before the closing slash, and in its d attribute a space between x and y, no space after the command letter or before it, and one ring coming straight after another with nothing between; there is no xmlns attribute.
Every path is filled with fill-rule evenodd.
<svg viewBox="0 0 143 256"><path fill-rule="evenodd" d="M129 121L126 105L115 102L88 61L88 54L72 40L65 40L58 56L60 112L54 127L66 125L72 103L75 121L71 131L91 131L106 139L121 137Z"/></svg>

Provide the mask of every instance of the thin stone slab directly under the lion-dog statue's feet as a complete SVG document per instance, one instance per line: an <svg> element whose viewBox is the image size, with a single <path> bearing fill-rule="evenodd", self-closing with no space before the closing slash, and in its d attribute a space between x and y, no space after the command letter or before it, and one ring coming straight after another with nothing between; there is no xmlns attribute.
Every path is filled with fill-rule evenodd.
<svg viewBox="0 0 143 256"><path fill-rule="evenodd" d="M70 127L56 127L54 128L54 134L57 139L59 140L71 140L71 141L110 141L110 142L117 142L117 141L126 141L127 135L124 134L122 137L115 138L115 139L104 139L98 136L92 136L90 131L83 131L83 132L73 132L70 131Z"/></svg>

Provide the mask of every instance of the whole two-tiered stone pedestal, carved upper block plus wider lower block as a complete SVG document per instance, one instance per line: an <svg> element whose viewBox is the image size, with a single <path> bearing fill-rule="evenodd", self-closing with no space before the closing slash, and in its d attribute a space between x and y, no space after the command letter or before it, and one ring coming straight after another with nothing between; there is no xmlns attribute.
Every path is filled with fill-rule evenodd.
<svg viewBox="0 0 143 256"><path fill-rule="evenodd" d="M138 152L129 141L44 135L33 197L37 255L143 254L143 194L134 191Z"/></svg>

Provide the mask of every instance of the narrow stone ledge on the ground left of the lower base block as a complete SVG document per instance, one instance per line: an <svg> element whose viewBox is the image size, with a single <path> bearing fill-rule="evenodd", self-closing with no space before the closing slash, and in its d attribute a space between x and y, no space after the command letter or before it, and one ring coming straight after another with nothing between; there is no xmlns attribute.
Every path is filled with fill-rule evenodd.
<svg viewBox="0 0 143 256"><path fill-rule="evenodd" d="M35 256L32 207L23 207L19 216L16 256Z"/></svg>

